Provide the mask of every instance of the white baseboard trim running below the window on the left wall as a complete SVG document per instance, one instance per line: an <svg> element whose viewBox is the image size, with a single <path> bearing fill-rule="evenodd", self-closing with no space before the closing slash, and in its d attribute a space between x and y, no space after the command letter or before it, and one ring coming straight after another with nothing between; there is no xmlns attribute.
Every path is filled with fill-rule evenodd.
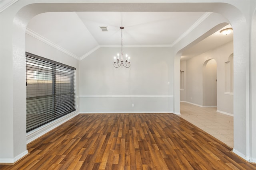
<svg viewBox="0 0 256 170"><path fill-rule="evenodd" d="M58 127L59 125L68 121L69 119L72 119L73 117L75 117L78 114L79 114L79 112L74 111L68 115L60 117L57 120L47 123L46 125L38 127L37 129L34 129L33 131L28 132L27 133L27 144L34 141L38 137L41 137L42 135L46 134L47 132L51 131L52 129Z"/></svg>

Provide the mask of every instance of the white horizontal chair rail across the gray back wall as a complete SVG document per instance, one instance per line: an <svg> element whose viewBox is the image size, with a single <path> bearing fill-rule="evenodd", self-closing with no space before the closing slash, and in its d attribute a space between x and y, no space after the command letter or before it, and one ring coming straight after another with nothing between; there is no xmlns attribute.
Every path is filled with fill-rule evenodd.
<svg viewBox="0 0 256 170"><path fill-rule="evenodd" d="M172 98L173 95L101 95L77 96L77 98Z"/></svg>

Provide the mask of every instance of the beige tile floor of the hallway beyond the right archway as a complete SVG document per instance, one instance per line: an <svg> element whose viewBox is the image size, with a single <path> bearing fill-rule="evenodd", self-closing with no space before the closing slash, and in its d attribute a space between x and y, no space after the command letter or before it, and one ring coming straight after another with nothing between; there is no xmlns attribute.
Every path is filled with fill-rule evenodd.
<svg viewBox="0 0 256 170"><path fill-rule="evenodd" d="M179 116L233 148L233 117L216 110L216 107L199 107L180 102Z"/></svg>

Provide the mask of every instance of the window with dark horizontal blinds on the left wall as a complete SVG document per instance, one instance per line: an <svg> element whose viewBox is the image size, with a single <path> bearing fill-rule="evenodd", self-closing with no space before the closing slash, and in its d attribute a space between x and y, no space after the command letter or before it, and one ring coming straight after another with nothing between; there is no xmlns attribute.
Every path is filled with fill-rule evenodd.
<svg viewBox="0 0 256 170"><path fill-rule="evenodd" d="M75 70L26 53L27 132L76 110Z"/></svg>

